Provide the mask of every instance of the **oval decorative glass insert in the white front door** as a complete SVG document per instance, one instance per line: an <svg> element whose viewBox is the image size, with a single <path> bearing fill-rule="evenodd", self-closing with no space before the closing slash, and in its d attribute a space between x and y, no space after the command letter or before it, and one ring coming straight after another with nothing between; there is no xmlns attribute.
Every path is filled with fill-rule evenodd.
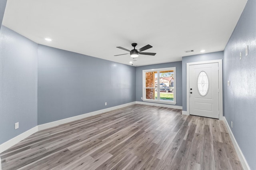
<svg viewBox="0 0 256 170"><path fill-rule="evenodd" d="M197 78L197 90L201 96L207 95L209 91L209 81L206 72L201 71Z"/></svg>

